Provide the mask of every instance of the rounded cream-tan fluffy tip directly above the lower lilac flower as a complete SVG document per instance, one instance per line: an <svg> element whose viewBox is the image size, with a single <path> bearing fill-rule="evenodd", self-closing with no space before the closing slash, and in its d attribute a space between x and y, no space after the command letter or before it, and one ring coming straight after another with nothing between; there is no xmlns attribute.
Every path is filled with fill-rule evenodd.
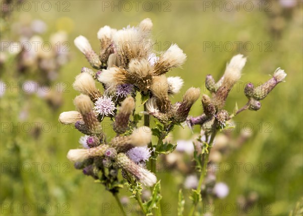
<svg viewBox="0 0 303 216"><path fill-rule="evenodd" d="M150 141L151 130L146 126L135 128L133 133L130 135L130 142L135 146L147 145Z"/></svg>

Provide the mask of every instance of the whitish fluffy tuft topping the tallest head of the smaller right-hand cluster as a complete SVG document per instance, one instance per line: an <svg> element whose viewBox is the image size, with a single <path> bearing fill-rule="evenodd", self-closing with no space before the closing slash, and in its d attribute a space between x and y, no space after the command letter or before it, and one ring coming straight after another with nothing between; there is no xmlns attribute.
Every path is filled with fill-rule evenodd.
<svg viewBox="0 0 303 216"><path fill-rule="evenodd" d="M230 83L232 85L239 80L245 63L246 58L244 58L243 55L239 54L234 56L226 66L223 83Z"/></svg>

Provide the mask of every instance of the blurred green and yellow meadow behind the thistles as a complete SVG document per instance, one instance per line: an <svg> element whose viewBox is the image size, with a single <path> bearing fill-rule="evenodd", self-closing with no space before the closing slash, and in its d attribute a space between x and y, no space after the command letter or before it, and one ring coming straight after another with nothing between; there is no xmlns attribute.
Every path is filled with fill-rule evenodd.
<svg viewBox="0 0 303 216"><path fill-rule="evenodd" d="M256 192L258 200L247 215L288 214L301 200L303 193L302 4L297 1L294 8L283 8L278 1L248 1L251 4L244 7L247 1L239 2L238 10L236 4L232 4L231 11L228 5L224 6L224 1L54 1L48 12L39 5L36 11L34 8L29 12L22 9L14 11L9 18L11 23L28 16L43 20L48 27L42 35L44 40L52 32L68 32L71 62L60 71L53 88L58 82L68 82L70 85L63 92L63 105L56 111L49 109L39 97L16 90L7 89L1 97L1 214L119 214L112 195L102 185L93 183L92 178L74 169L66 158L69 149L79 146L81 134L72 127L60 125L58 117L64 111L74 110L72 101L77 92L71 84L82 67L89 67L82 53L74 46L73 39L84 35L98 51L96 33L100 27L109 25L120 29L129 24L137 25L147 17L154 23L156 50L165 50L173 42L188 57L182 69L169 72L169 75L180 76L184 80L181 93L174 96L173 101L180 100L182 93L191 86L201 87L206 93L205 76L212 74L218 80L226 63L237 53L247 56L247 63L239 89L234 88L228 98L226 106L230 112L235 102L239 107L246 103L243 94L245 82L257 85L267 81L268 75L273 74L276 68L285 70L286 82L279 84L262 101L260 111L243 112L234 119L234 122L242 122L242 125L232 131L233 137L239 135L245 123L251 123L254 128L241 148L224 156L222 163L251 163L254 170L248 173L240 166L239 172L234 169L217 174L217 180L226 182L230 193L226 198L215 201L217 210L214 215L243 214L237 212L234 203L240 202L241 197L250 192ZM208 7L206 3L211 6ZM213 8L215 4L219 6ZM112 8L113 5L118 6ZM253 8L250 11L251 5ZM266 12L266 9L270 11ZM10 34L6 36L14 38ZM242 43L237 46L236 41ZM209 44L211 47L207 46ZM233 48L229 44L233 44ZM25 76L16 75L14 65L7 65L1 71L3 82L17 83L26 80ZM21 121L19 115L24 106L28 108L28 118ZM190 115L197 116L201 112L200 102L196 102ZM22 130L23 126L26 127L25 123L34 127L34 122L40 125L46 123L39 135ZM4 127L4 123L9 123L9 128ZM48 129L48 126L51 128ZM270 129L266 130L269 126ZM199 132L199 129L195 128L194 131ZM188 128L176 128L173 135L174 140L190 139L192 133ZM268 172L265 172L267 168ZM185 176L171 171L161 172L159 178L162 179L162 213L176 215L178 190ZM185 212L188 212L191 206L189 191L183 191L186 197ZM125 189L121 190L121 194L130 195ZM28 210L26 203L29 203L31 210ZM231 212L226 203L232 204ZM221 211L220 205L226 206L227 210ZM130 208L136 214L135 205Z"/></svg>

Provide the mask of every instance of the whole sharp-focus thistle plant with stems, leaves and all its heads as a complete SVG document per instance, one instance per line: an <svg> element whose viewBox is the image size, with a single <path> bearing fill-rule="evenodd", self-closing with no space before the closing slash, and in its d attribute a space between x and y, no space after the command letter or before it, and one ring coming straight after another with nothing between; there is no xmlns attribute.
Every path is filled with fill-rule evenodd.
<svg viewBox="0 0 303 216"><path fill-rule="evenodd" d="M200 180L192 194L193 214L201 201L200 188L206 175L204 164L208 162L217 132L224 130L227 121L240 112L259 110L260 100L282 82L286 74L277 69L273 78L264 85L254 87L247 84L245 95L248 102L230 114L224 110L225 101L233 84L241 77L246 62L242 55L237 55L217 83L211 75L207 76L206 86L211 97L202 95L204 114L188 117L191 106L200 97L199 88L187 89L182 101L173 104L170 97L180 92L183 80L167 76L170 70L181 67L187 57L177 44L156 53L151 45L152 27L153 23L147 18L136 27L127 26L121 30L109 26L100 28L97 32L100 41L98 52L92 49L84 36L74 40L95 70L83 67L76 76L73 87L80 93L74 99L76 111L62 113L59 121L73 124L84 135L79 140L82 147L71 149L67 154L75 168L103 184L116 198L124 214L118 193L127 187L142 213L148 215L159 213L155 210L160 207L162 198L156 173L157 158L161 154L170 154L177 145L166 138L176 126L186 125L183 123L190 127L200 125L201 136L199 144L195 144L194 154ZM143 111L140 110L142 105ZM155 127L151 127L150 117L154 117ZM115 137L109 137L103 129L105 118L112 121ZM220 186L222 188L222 184L217 188ZM151 192L150 198L144 202L140 196L143 188ZM180 214L184 205L182 197L180 192L180 203L183 203L179 206Z"/></svg>

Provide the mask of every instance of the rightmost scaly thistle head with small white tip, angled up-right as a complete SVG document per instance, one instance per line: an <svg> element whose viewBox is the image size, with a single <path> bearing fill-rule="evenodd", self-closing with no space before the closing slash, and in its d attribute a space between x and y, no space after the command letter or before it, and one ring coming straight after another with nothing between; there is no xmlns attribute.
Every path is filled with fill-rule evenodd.
<svg viewBox="0 0 303 216"><path fill-rule="evenodd" d="M284 80L285 77L286 73L284 70L278 68L270 80L254 89L254 94L252 97L254 97L256 100L264 99L278 83Z"/></svg>

